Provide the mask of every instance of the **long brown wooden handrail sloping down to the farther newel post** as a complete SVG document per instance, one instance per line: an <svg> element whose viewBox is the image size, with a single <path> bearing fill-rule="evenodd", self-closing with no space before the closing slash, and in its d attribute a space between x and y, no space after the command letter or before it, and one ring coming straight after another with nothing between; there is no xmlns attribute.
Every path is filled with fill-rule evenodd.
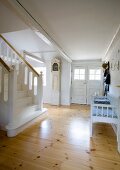
<svg viewBox="0 0 120 170"><path fill-rule="evenodd" d="M22 57L22 55L17 52L17 50L0 34L0 37L7 43L7 45L12 48L12 50L24 61L24 63L37 75L39 76L38 72Z"/></svg>

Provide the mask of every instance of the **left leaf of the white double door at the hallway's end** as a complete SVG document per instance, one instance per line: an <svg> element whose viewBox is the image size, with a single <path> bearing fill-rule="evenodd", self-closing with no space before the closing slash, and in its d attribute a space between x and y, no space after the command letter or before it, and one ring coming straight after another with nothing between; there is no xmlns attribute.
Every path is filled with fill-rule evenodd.
<svg viewBox="0 0 120 170"><path fill-rule="evenodd" d="M72 103L86 104L86 68L74 67L72 72Z"/></svg>

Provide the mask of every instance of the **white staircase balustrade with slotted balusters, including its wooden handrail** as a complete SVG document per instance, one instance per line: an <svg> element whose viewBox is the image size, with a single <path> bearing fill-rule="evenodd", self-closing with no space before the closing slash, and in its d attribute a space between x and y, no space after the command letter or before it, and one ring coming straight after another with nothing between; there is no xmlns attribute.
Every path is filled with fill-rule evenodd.
<svg viewBox="0 0 120 170"><path fill-rule="evenodd" d="M8 123L7 128L11 129L17 114L18 92L25 91L28 97L32 97L31 105L35 105L35 110L42 110L42 73L37 74L32 66L6 40L4 41L2 36L0 36L0 58L2 59L0 62L0 116L4 117L4 123Z"/></svg>

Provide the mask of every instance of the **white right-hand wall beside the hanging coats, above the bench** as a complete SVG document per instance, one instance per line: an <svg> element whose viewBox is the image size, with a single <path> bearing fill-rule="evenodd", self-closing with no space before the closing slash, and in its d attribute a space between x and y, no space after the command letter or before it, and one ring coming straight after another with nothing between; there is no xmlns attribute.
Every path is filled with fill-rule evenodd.
<svg viewBox="0 0 120 170"><path fill-rule="evenodd" d="M113 68L110 68L110 94L118 97L120 96L120 88L117 87L117 85L120 85L120 30L108 50L106 61L110 62L110 66L112 63L113 66ZM117 68L117 66L119 67Z"/></svg>

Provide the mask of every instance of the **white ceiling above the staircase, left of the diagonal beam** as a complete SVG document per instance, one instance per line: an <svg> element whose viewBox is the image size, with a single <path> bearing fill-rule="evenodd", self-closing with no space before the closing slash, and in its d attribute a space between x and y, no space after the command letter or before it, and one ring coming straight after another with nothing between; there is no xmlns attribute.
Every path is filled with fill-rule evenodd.
<svg viewBox="0 0 120 170"><path fill-rule="evenodd" d="M52 54L56 49L40 39L7 1L0 0L0 34L2 34L18 51L26 50L43 56Z"/></svg>

